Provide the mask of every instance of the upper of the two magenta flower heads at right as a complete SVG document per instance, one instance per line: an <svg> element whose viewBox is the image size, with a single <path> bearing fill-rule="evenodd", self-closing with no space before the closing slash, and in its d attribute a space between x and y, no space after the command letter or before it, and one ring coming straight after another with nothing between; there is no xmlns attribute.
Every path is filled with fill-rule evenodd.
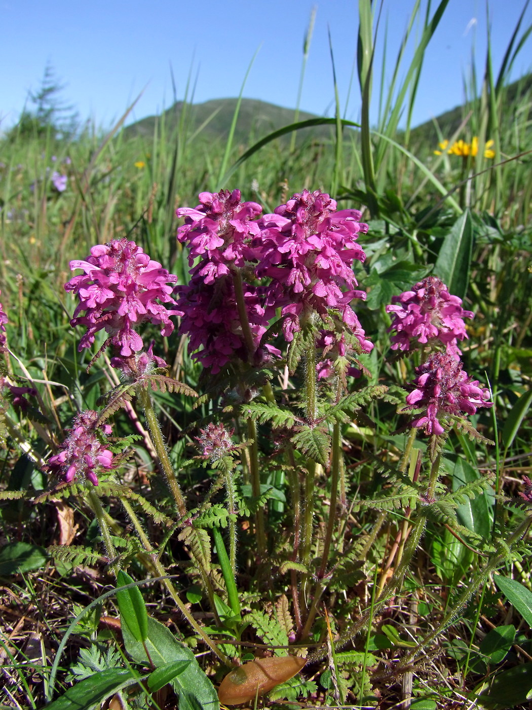
<svg viewBox="0 0 532 710"><path fill-rule="evenodd" d="M474 317L436 276L427 276L411 291L392 297L392 305L386 310L392 314L388 331L396 332L392 350L410 350L412 341L431 346L443 344L447 354L457 360L461 355L458 340L467 338L464 318Z"/></svg>

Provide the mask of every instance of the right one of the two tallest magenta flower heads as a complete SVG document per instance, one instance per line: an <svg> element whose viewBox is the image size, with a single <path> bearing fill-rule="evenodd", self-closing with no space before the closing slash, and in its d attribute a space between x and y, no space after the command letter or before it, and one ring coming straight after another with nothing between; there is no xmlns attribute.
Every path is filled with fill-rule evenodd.
<svg viewBox="0 0 532 710"><path fill-rule="evenodd" d="M266 303L281 307L287 342L311 313L326 318L329 309L342 317L358 337L361 349L370 351L358 317L350 307L365 293L358 285L353 262L364 261L358 234L367 232L357 209L336 211L336 202L325 193L303 190L262 218L260 241L255 241L259 261L256 273L270 278ZM347 288L347 290L342 290Z"/></svg>

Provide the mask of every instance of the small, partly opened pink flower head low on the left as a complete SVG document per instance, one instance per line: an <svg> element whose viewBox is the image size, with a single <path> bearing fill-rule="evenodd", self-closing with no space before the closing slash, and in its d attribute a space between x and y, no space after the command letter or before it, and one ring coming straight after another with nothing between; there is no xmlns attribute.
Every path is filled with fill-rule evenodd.
<svg viewBox="0 0 532 710"><path fill-rule="evenodd" d="M96 412L84 410L74 418L60 452L50 457L46 468L65 483L83 476L97 486L97 469L113 469L113 454L101 443L110 434L109 424L99 424Z"/></svg>

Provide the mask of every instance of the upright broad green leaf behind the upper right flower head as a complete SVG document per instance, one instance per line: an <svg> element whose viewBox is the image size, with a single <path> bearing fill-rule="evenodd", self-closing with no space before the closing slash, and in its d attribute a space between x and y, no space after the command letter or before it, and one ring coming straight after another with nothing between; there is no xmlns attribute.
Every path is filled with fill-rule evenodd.
<svg viewBox="0 0 532 710"><path fill-rule="evenodd" d="M445 236L433 271L447 285L449 293L459 298L465 297L467 292L472 248L473 224L466 210Z"/></svg>

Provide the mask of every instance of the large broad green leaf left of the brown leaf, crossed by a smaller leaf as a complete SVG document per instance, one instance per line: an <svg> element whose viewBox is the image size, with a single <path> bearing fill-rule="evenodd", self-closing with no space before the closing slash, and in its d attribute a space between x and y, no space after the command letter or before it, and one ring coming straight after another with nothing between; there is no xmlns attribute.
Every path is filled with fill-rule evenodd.
<svg viewBox="0 0 532 710"><path fill-rule="evenodd" d="M122 628L123 643L131 658L150 665L146 649L155 667L173 661L189 661L189 666L172 679L172 687L179 696L179 710L219 710L220 704L214 685L199 667L192 650L179 643L169 628L148 616L148 638L143 643L136 640L128 629Z"/></svg>

